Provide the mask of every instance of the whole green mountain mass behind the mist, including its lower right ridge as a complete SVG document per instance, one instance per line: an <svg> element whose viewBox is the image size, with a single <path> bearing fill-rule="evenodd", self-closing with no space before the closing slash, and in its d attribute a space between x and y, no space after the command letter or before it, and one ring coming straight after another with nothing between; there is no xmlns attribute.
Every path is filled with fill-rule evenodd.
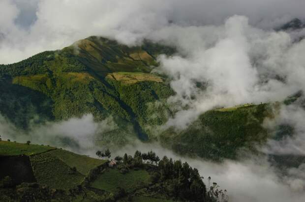
<svg viewBox="0 0 305 202"><path fill-rule="evenodd" d="M182 131L160 130L175 115L167 102L175 92L166 76L152 70L159 54L175 52L150 41L127 47L91 36L59 51L0 65L0 114L23 130L88 113L95 121L112 117L116 127L94 139L108 147L134 139L160 141L180 154L216 161L236 159L240 150L257 152L256 146L271 137L262 123L273 116L272 104L214 109Z"/></svg>

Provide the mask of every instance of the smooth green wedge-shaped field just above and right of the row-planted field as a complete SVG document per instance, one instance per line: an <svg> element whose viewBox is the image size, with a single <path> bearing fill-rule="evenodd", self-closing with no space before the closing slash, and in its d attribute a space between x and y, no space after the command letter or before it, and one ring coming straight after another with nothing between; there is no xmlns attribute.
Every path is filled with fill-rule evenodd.
<svg viewBox="0 0 305 202"><path fill-rule="evenodd" d="M65 150L53 150L50 151L50 153L58 157L71 168L76 167L77 171L83 175L89 174L92 168L95 168L96 166L106 162L106 160L99 160Z"/></svg>

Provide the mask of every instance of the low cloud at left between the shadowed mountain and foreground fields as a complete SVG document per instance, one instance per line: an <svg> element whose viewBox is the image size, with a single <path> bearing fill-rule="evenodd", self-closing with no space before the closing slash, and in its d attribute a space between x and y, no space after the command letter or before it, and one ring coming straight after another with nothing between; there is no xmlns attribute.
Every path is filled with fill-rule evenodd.
<svg viewBox="0 0 305 202"><path fill-rule="evenodd" d="M119 126L112 116L101 122L95 122L92 114L84 115L82 118L71 118L61 122L46 122L45 124L31 124L27 130L19 129L0 115L0 135L2 140L26 142L32 144L50 145L63 148L81 154L95 155L95 151L101 147L118 147L114 142L109 143L109 136L115 136L112 131L118 131ZM110 134L108 134L110 133ZM118 137L115 137L118 138ZM136 138L136 134L125 131L121 140L127 144ZM104 142L103 142L104 140ZM105 145L107 142L107 145Z"/></svg>

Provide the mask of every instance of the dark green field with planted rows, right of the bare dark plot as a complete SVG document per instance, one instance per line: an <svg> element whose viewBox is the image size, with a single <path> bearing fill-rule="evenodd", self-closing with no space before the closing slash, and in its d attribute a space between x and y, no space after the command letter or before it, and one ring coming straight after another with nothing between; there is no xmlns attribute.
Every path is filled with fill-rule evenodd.
<svg viewBox="0 0 305 202"><path fill-rule="evenodd" d="M53 188L69 189L82 183L85 176L73 172L69 166L50 152L30 156L37 182Z"/></svg>

